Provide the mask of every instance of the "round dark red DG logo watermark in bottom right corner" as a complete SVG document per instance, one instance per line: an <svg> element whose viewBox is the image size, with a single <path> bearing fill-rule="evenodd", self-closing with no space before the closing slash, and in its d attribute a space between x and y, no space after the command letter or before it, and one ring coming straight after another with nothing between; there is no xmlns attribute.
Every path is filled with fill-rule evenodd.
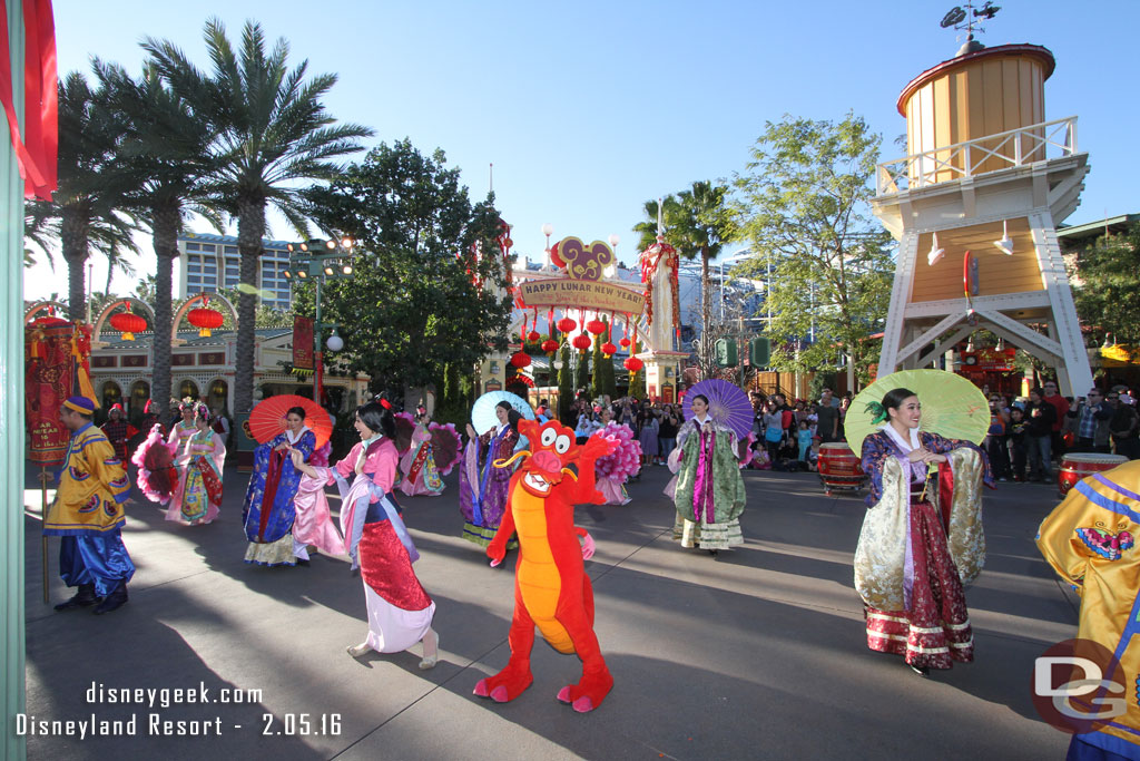
<svg viewBox="0 0 1140 761"><path fill-rule="evenodd" d="M1108 648L1069 639L1034 661L1033 705L1057 729L1081 735L1127 712L1127 682Z"/></svg>

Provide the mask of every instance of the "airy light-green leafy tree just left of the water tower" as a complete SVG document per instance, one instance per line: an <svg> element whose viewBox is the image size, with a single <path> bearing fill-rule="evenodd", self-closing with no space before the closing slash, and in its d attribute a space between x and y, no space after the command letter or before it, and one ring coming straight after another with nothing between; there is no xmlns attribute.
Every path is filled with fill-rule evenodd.
<svg viewBox="0 0 1140 761"><path fill-rule="evenodd" d="M881 138L842 121L768 122L738 175L736 213L751 257L734 274L771 280L772 366L834 367L852 356L862 380L878 359L890 300L890 236L870 214Z"/></svg>

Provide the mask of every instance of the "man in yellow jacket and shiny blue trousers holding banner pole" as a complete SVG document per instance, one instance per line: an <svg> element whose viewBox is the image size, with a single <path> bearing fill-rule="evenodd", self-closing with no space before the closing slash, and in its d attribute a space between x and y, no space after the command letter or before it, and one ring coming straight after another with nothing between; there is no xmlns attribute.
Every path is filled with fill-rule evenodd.
<svg viewBox="0 0 1140 761"><path fill-rule="evenodd" d="M56 610L89 607L101 615L127 602L135 564L120 534L131 485L123 462L91 423L95 403L70 397L59 419L72 432L56 499L43 520L47 536L59 536L59 575L79 591Z"/></svg>

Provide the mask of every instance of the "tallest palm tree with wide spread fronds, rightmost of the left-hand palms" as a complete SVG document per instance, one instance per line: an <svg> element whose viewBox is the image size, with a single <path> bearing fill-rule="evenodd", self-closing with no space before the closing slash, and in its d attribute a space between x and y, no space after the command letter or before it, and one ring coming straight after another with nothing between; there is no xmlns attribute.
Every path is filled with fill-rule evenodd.
<svg viewBox="0 0 1140 761"><path fill-rule="evenodd" d="M279 39L267 55L261 25L246 22L236 52L222 23L211 18L205 42L213 72L198 71L171 42L148 38L142 47L171 89L219 132L213 151L220 168L212 178L215 203L237 219L242 257L238 300L236 414L253 403L253 339L258 258L266 233L266 208L272 204L308 235L298 180L332 179L340 167L328 161L360 149L359 138L373 131L358 124L334 126L320 99L336 83L335 74L304 81L308 62L288 70L288 43Z"/></svg>

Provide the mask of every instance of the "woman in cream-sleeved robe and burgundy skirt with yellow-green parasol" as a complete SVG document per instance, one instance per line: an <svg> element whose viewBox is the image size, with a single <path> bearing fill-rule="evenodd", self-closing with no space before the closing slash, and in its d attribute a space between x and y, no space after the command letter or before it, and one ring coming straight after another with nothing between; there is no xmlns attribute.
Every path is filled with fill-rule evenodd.
<svg viewBox="0 0 1140 761"><path fill-rule="evenodd" d="M902 387L906 381L929 392ZM874 399L887 384L890 390ZM955 396L955 387L964 392ZM928 415L933 423L963 438L929 430L920 398L937 407ZM963 586L985 562L980 485L993 487L994 481L976 442L987 426L980 391L966 379L936 370L885 378L852 404L848 442L862 452L871 483L871 509L855 550L855 589L864 602L868 647L904 656L922 675L974 659Z"/></svg>

